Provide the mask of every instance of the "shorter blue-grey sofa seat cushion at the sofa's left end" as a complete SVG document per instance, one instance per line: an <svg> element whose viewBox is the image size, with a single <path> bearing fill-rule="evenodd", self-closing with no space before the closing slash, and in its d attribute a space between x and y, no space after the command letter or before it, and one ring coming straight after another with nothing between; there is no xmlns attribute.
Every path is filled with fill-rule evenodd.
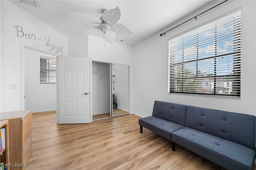
<svg viewBox="0 0 256 170"><path fill-rule="evenodd" d="M139 119L139 125L171 140L171 133L182 128L182 125L167 121L155 116L149 116Z"/></svg>

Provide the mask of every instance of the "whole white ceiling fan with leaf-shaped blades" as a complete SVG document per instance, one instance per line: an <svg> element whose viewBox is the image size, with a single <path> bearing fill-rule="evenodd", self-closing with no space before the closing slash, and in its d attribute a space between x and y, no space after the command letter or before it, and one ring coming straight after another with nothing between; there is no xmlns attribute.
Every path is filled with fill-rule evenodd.
<svg viewBox="0 0 256 170"><path fill-rule="evenodd" d="M71 12L69 13L73 16L76 16L80 19L89 21L91 23L100 24L98 26L91 27L90 29L82 33L83 36L92 35L98 33L99 31L103 32L104 40L113 44L116 38L116 33L121 35L134 35L136 34L130 28L126 27L122 23L117 23L121 18L121 11L118 7L111 10L102 10L102 17L100 19L88 16L85 14L79 14ZM105 42L105 41L104 41Z"/></svg>

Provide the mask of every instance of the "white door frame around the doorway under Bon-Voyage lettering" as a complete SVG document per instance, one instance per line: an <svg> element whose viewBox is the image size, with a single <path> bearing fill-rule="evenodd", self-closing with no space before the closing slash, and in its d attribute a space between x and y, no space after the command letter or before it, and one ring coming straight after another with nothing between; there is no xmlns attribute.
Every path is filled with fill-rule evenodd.
<svg viewBox="0 0 256 170"><path fill-rule="evenodd" d="M20 41L20 98L21 98L20 99L20 108L21 108L21 110L25 109L25 98L24 98L24 96L25 96L25 60L26 60L25 48L31 49L31 50L34 50L34 51L38 51L38 52L41 52L41 53L53 55L51 53L46 52L43 49L40 49L38 47L34 47L32 45L29 45L29 44L26 44L26 43L23 43L22 41ZM55 56L56 59L58 57L57 55L53 55L53 56ZM56 84L56 85L57 85L57 93L58 93L58 84ZM58 96L57 96L56 100L58 100ZM56 107L58 107L58 106L56 106Z"/></svg>

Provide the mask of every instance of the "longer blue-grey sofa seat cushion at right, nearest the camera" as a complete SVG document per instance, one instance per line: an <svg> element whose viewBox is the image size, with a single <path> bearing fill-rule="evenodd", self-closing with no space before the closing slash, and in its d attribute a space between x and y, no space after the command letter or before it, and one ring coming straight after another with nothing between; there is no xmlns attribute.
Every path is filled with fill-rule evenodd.
<svg viewBox="0 0 256 170"><path fill-rule="evenodd" d="M253 149L196 129L178 129L172 141L227 169L252 169L254 165Z"/></svg>

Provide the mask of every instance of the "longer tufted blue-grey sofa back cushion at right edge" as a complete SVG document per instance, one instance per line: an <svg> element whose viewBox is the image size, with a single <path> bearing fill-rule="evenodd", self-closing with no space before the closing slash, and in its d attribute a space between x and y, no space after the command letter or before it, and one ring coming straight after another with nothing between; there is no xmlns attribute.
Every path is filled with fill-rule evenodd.
<svg viewBox="0 0 256 170"><path fill-rule="evenodd" d="M186 114L186 127L239 143L254 150L255 121L253 115L194 106L188 106Z"/></svg>

